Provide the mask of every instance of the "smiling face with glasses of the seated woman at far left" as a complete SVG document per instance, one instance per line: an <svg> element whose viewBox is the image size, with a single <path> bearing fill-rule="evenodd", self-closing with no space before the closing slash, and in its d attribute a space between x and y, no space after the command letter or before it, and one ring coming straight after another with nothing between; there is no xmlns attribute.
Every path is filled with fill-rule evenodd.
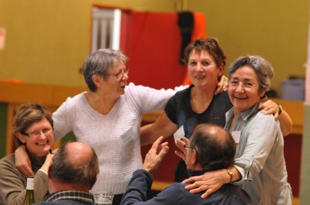
<svg viewBox="0 0 310 205"><path fill-rule="evenodd" d="M40 133L39 136L35 136L37 133ZM53 128L45 117L41 121L31 124L25 134L28 136L17 133L17 138L26 144L30 153L36 157L44 157L48 154L54 142L54 135Z"/></svg>

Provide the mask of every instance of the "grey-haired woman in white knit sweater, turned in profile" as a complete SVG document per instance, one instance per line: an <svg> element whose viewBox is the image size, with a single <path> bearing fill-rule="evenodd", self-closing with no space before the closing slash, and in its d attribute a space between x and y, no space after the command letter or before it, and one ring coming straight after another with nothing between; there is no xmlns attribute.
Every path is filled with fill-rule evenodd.
<svg viewBox="0 0 310 205"><path fill-rule="evenodd" d="M55 139L73 131L78 141L89 144L97 153L100 175L91 191L112 192L113 204L120 204L132 173L142 166L141 115L163 110L176 92L127 84L126 61L118 50L91 53L83 66L89 91L69 97L53 113ZM19 161L22 164L25 160L21 157Z"/></svg>

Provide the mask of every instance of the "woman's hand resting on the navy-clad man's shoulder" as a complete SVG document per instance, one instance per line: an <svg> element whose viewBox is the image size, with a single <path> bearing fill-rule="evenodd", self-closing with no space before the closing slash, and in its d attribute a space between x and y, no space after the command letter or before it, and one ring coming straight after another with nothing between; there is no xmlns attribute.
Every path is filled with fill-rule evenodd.
<svg viewBox="0 0 310 205"><path fill-rule="evenodd" d="M229 182L227 178L227 170L213 170L206 172L203 175L190 177L185 179L182 183L187 183L189 185L185 186L185 189L190 191L190 193L200 193L201 191L206 191L201 195L201 198L206 198L208 195L215 193L219 190L223 184Z"/></svg>

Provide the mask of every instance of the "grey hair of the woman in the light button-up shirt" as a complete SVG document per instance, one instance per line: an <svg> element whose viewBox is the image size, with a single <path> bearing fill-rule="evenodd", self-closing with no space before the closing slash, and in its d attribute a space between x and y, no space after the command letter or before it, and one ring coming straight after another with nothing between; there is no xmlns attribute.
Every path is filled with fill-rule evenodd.
<svg viewBox="0 0 310 205"><path fill-rule="evenodd" d="M228 79L236 70L244 66L248 66L255 71L259 80L259 93L270 90L273 67L266 59L258 55L243 56L233 61L228 70Z"/></svg>

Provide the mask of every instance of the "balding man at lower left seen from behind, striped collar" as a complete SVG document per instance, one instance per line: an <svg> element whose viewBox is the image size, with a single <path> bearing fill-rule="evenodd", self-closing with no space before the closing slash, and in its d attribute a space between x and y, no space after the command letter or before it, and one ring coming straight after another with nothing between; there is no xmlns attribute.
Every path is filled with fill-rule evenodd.
<svg viewBox="0 0 310 205"><path fill-rule="evenodd" d="M69 142L57 151L48 168L48 191L45 202L38 204L94 204L89 190L99 174L98 157L90 146Z"/></svg>

